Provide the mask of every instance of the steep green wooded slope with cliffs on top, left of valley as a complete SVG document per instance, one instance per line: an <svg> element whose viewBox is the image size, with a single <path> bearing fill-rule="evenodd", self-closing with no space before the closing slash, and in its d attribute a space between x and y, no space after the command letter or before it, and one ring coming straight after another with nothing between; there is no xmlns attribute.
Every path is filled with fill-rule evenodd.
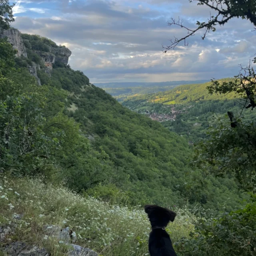
<svg viewBox="0 0 256 256"><path fill-rule="evenodd" d="M6 171L43 174L81 194L120 204L200 204L214 210L226 204L231 210L245 197L234 180L206 178L192 169L186 138L122 106L83 72L72 70L64 46L13 28L0 34L17 50L16 69L5 75L11 86L2 88L1 100L8 105L12 97L20 111L1 112L6 118L1 131L13 133L12 140L1 142L2 148L8 145L1 155ZM14 114L16 126L8 123ZM30 118L25 126L24 118ZM21 134L26 136L20 141ZM17 151L22 143L24 152Z"/></svg>

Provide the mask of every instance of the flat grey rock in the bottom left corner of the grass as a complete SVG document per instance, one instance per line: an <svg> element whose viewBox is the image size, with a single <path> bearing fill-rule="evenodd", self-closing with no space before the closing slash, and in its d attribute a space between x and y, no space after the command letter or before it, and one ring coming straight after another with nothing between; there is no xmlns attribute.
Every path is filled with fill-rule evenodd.
<svg viewBox="0 0 256 256"><path fill-rule="evenodd" d="M44 248L27 246L24 242L14 242L4 248L8 256L50 256Z"/></svg>

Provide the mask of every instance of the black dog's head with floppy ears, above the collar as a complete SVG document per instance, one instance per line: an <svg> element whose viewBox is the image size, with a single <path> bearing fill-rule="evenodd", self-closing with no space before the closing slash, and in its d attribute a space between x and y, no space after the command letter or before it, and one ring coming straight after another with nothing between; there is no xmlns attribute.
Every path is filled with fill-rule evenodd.
<svg viewBox="0 0 256 256"><path fill-rule="evenodd" d="M145 205L144 209L146 214L148 214L148 218L152 227L166 227L170 221L174 221L176 216L175 212L157 205Z"/></svg>

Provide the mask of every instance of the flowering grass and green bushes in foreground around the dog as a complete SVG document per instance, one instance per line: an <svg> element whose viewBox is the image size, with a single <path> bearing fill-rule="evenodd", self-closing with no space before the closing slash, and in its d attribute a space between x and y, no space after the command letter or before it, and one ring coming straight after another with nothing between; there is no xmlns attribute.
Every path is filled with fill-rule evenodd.
<svg viewBox="0 0 256 256"><path fill-rule="evenodd" d="M14 179L0 174L0 226L16 223L0 244L12 241L44 247L53 256L67 255L61 238L49 236L45 225L70 227L76 244L104 256L148 255L150 224L140 206L130 209L79 196L44 180ZM177 217L166 228L182 256L252 256L256 250L256 201L236 212L208 215L203 208L173 208ZM225 210L224 208L222 210ZM21 215L20 220L15 219ZM208 215L208 217L207 217Z"/></svg>

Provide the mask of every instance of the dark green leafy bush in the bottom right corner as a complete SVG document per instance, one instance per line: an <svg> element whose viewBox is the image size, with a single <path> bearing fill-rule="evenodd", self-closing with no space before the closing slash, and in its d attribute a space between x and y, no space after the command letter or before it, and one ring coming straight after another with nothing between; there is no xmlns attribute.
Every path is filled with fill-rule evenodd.
<svg viewBox="0 0 256 256"><path fill-rule="evenodd" d="M256 255L256 202L218 218L200 220L190 236L176 243L180 255Z"/></svg>

